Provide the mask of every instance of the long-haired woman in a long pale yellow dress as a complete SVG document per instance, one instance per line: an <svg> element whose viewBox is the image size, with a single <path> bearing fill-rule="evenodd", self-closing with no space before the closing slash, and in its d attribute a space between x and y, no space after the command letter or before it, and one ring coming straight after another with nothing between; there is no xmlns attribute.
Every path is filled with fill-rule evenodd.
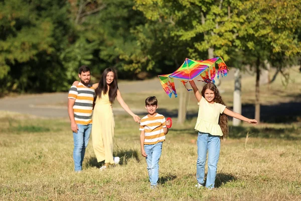
<svg viewBox="0 0 301 201"><path fill-rule="evenodd" d="M74 82L74 84L76 84ZM99 83L93 84L95 88L95 107L92 116L92 144L97 162L104 161L101 170L109 164L119 163L119 157L113 157L114 117L111 104L115 99L121 107L133 117L135 122L140 118L135 115L124 103L117 85L117 76L113 69L106 68Z"/></svg>

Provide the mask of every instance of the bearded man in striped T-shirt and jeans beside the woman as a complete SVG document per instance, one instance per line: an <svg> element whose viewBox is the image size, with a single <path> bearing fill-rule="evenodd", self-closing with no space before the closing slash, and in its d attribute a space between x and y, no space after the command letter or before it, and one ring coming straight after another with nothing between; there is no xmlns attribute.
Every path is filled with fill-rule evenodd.
<svg viewBox="0 0 301 201"><path fill-rule="evenodd" d="M78 69L80 82L77 86L71 86L68 94L68 114L73 131L74 149L73 160L74 170L82 170L82 164L88 146L92 129L92 111L95 90L90 83L90 68L81 66Z"/></svg>

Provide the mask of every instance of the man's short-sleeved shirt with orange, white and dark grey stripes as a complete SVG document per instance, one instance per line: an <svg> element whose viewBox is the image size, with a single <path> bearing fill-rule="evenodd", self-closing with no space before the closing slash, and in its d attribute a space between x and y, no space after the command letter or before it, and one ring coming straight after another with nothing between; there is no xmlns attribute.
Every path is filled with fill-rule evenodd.
<svg viewBox="0 0 301 201"><path fill-rule="evenodd" d="M68 98L75 99L73 111L76 124L92 124L94 94L95 89L92 86L85 86L81 82L69 89Z"/></svg>

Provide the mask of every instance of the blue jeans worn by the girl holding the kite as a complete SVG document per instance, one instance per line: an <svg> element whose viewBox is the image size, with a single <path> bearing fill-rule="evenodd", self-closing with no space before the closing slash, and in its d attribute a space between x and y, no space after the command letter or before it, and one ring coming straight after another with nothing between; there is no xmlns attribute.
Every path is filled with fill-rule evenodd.
<svg viewBox="0 0 301 201"><path fill-rule="evenodd" d="M219 159L221 140L220 136L213 136L209 133L199 132L198 135L198 160L197 160L197 181L204 185L205 163L208 151L208 174L206 187L214 188L217 162Z"/></svg>

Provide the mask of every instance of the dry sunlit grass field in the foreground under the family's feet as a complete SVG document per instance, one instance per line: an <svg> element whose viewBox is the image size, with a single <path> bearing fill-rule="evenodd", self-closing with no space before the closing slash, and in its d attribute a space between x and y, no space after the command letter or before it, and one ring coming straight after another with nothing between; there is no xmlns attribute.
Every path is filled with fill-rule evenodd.
<svg viewBox="0 0 301 201"><path fill-rule="evenodd" d="M231 127L222 141L217 188L196 189L196 119L174 125L160 159L160 187L149 188L139 131L116 116L115 155L121 164L100 172L90 142L84 171L73 172L67 120L2 118L0 200L300 200L300 125ZM28 128L44 128L44 130ZM15 129L14 129L15 128ZM16 129L18 128L18 129ZM281 131L282 133L280 133ZM245 137L249 132L249 140Z"/></svg>

